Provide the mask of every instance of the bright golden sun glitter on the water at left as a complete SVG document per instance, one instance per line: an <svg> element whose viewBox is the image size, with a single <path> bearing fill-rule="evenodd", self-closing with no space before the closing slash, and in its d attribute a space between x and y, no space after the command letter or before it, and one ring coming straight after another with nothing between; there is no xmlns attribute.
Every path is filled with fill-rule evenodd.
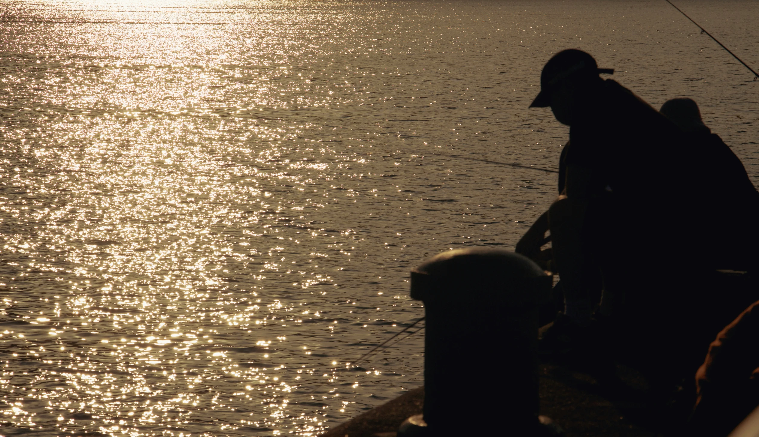
<svg viewBox="0 0 759 437"><path fill-rule="evenodd" d="M323 429L328 407L345 413L352 401L315 386L293 409L290 395L336 380L320 349L335 348L324 342L339 322L320 320L329 311L317 297L336 285L341 263L327 258L350 260L363 239L314 211L363 189L324 185L356 161L323 161L340 152L320 131L339 141L338 126L280 111L339 108L354 98L332 89L353 85L281 65L298 37L280 33L282 20L297 12L37 6L12 17L65 24L34 30L33 48L17 31L27 58L5 64L14 119L3 143L0 407L11 429ZM244 30L230 41L235 21ZM365 378L351 391L354 379Z"/></svg>

